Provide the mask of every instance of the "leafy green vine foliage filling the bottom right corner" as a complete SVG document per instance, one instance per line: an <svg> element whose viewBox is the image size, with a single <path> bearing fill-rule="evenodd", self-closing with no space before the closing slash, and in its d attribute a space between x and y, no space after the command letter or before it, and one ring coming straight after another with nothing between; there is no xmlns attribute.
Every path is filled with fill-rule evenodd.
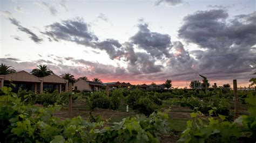
<svg viewBox="0 0 256 143"><path fill-rule="evenodd" d="M191 113L193 120L187 121L187 128L178 142L254 142L256 140L256 96L248 94L246 102L252 106L250 115L240 116L234 121L208 117L207 123L201 120L201 112ZM210 115L213 110L209 111Z"/></svg>

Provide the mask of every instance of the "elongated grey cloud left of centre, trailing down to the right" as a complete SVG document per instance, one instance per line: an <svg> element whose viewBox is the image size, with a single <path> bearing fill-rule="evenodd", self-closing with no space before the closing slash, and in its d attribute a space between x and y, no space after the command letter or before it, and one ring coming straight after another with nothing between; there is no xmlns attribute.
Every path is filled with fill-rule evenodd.
<svg viewBox="0 0 256 143"><path fill-rule="evenodd" d="M80 45L97 48L106 51L112 60L120 58L124 54L122 45L118 40L106 39L98 41L97 36L90 32L90 25L84 23L82 18L64 20L62 23L54 23L47 27L48 30L43 33L55 39L55 41L72 41Z"/></svg>

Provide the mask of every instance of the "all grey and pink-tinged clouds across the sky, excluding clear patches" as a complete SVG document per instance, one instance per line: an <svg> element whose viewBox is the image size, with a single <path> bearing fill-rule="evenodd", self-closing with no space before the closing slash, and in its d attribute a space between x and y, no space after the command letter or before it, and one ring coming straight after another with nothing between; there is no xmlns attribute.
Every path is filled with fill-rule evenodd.
<svg viewBox="0 0 256 143"><path fill-rule="evenodd" d="M176 5L183 1L158 2L158 5L162 2ZM45 26L41 33L49 41L74 42L83 45L85 51L97 49L105 52L109 59L117 63L124 62L124 66L104 65L55 55L49 55L52 60L42 58L31 62L22 62L15 58L0 60L17 69L31 70L37 64L48 64L58 74L72 73L76 76L116 80L164 81L172 78L185 81L198 73L212 80L246 80L256 69L255 19L256 12L229 17L223 9L197 11L184 17L178 30L180 41L171 41L169 34L154 32L149 24L143 22L137 25L138 31L134 35L120 43L112 38L99 39L91 30L91 25L78 17ZM36 43L43 41L16 19L9 20L18 30L29 34L31 40ZM14 38L20 40L18 37ZM186 47L188 44L195 44L198 49Z"/></svg>

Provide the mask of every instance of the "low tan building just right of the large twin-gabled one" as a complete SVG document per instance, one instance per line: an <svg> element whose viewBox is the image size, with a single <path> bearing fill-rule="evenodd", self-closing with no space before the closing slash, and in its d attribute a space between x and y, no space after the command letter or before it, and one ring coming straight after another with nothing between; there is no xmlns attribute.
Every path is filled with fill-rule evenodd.
<svg viewBox="0 0 256 143"><path fill-rule="evenodd" d="M101 90L106 85L100 82L79 80L75 82L73 86L75 90L97 91L97 90Z"/></svg>

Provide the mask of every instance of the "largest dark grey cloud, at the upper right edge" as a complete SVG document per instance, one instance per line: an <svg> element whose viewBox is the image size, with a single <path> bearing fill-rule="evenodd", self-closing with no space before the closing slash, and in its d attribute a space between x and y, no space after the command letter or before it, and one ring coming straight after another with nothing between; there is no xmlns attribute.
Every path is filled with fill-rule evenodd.
<svg viewBox="0 0 256 143"><path fill-rule="evenodd" d="M224 10L198 11L188 15L179 29L179 37L202 48L216 50L226 50L233 44L247 48L255 45L254 13L240 16L243 19L232 19L229 23L227 17Z"/></svg>

